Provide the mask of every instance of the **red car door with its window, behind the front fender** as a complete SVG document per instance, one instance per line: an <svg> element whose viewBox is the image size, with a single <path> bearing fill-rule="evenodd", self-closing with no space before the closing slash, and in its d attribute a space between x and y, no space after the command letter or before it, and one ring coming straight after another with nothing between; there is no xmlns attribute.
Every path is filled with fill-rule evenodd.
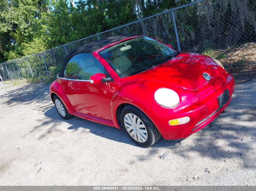
<svg viewBox="0 0 256 191"><path fill-rule="evenodd" d="M90 77L104 73L104 67L91 54L77 54L72 60L71 89L80 113L111 119L110 94L107 83L91 84Z"/></svg>

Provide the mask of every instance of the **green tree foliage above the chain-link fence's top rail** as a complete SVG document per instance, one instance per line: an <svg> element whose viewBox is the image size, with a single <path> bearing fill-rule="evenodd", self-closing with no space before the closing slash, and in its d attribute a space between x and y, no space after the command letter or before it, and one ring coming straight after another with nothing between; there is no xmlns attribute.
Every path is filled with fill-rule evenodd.
<svg viewBox="0 0 256 191"><path fill-rule="evenodd" d="M0 0L0 62L189 2L192 0Z"/></svg>

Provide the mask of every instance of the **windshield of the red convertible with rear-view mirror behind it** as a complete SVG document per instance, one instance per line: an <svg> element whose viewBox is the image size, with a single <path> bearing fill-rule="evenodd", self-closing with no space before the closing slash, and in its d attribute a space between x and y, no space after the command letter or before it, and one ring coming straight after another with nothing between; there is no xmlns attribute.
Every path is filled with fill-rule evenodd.
<svg viewBox="0 0 256 191"><path fill-rule="evenodd" d="M123 78L153 68L177 52L149 37L138 37L102 50L100 55Z"/></svg>

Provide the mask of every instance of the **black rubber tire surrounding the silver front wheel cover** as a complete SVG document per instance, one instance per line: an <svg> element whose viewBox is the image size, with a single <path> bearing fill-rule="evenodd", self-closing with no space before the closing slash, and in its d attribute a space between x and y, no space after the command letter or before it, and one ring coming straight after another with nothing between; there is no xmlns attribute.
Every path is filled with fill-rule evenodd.
<svg viewBox="0 0 256 191"><path fill-rule="evenodd" d="M147 132L148 132L148 138L145 142L141 143L141 142L138 142L136 141L134 138L131 137L131 135L129 134L129 132L127 131L127 129L125 128L125 122L124 122L124 118L125 118L125 115L127 113L132 113L136 116L138 116L138 118L141 119L141 121L144 123L146 129L147 129ZM122 112L121 112L121 122L122 122L122 126L123 126L123 129L125 131L125 133L128 135L128 137L133 141L135 142L137 145L139 146L142 146L142 147L149 147L152 145L152 142L153 142L153 138L152 138L152 131L151 129L149 128L150 125L153 125L153 123L150 121L150 119L145 119L145 118L148 118L148 116L145 115L145 113L143 113L141 110L139 110L138 108L134 107L134 106L131 106L131 107L125 107ZM147 121L145 120L149 120L150 123L152 124L148 124Z"/></svg>

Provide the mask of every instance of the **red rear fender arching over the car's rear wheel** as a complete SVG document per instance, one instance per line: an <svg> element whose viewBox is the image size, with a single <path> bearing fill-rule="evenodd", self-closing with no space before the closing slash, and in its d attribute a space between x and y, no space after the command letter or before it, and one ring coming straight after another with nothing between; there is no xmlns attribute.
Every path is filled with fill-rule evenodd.
<svg viewBox="0 0 256 191"><path fill-rule="evenodd" d="M72 114L74 112L74 109L73 109L67 95L64 93L61 85L59 84L59 82L57 80L52 82L52 84L50 86L50 96L52 93L55 93L58 95L58 97L62 100L65 107L67 108L68 113ZM52 102L53 102L53 100L52 100Z"/></svg>

